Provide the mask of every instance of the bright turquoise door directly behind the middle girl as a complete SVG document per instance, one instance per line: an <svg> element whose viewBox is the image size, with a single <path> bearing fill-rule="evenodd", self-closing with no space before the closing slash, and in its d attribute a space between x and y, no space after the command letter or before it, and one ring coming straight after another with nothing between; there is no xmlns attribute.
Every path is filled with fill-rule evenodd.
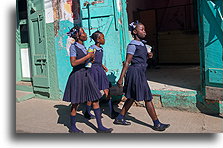
<svg viewBox="0 0 223 148"><path fill-rule="evenodd" d="M122 7L122 5L119 4L119 7ZM80 10L81 25L88 36L97 30L105 35L103 63L109 69L109 80L115 83L122 68L126 48L125 42L127 41L126 32L123 29L127 28L127 25L123 27L127 23L124 20L124 12L118 11L120 9L117 8L116 0L89 0L88 2L80 0ZM85 46L89 47L91 44L94 44L94 42L90 42L89 38Z"/></svg>

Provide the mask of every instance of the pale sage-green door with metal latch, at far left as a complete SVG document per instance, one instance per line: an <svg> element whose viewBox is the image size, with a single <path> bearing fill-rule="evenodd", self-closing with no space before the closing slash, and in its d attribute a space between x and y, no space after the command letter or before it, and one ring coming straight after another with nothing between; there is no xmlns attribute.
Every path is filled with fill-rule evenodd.
<svg viewBox="0 0 223 148"><path fill-rule="evenodd" d="M49 88L49 68L43 1L28 0L27 7L34 91L47 92Z"/></svg>

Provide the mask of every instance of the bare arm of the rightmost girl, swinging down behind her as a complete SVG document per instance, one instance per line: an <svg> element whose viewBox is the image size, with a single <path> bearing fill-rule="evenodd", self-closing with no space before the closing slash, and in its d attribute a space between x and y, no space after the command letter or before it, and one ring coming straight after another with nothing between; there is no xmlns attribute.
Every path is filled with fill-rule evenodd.
<svg viewBox="0 0 223 148"><path fill-rule="evenodd" d="M121 72L121 75L120 75L119 80L117 82L117 84L118 84L119 87L122 86L123 78L125 76L126 71L128 70L129 64L132 61L132 57L133 57L132 54L127 54L127 56L126 56L126 61L123 64L122 72Z"/></svg>

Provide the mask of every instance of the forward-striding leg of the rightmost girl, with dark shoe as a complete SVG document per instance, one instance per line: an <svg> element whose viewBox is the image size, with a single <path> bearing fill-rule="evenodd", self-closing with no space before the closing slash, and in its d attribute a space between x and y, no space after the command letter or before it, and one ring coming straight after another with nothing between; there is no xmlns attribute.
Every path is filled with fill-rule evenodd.
<svg viewBox="0 0 223 148"><path fill-rule="evenodd" d="M146 111L153 120L154 130L164 131L166 128L170 126L170 124L163 124L158 120L152 101L145 101L145 106L146 106Z"/></svg>

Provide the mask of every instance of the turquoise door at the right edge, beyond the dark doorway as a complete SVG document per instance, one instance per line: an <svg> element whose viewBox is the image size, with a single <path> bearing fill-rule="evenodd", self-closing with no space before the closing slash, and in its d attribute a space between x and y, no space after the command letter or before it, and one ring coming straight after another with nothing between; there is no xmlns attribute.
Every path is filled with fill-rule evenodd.
<svg viewBox="0 0 223 148"><path fill-rule="evenodd" d="M223 100L223 1L198 0L198 8L203 94Z"/></svg>

